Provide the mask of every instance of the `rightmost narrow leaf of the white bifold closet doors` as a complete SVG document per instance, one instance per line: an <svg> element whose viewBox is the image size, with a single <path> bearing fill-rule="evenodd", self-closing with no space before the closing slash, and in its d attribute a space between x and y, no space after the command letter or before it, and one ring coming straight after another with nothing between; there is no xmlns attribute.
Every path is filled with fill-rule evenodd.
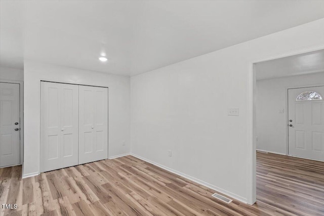
<svg viewBox="0 0 324 216"><path fill-rule="evenodd" d="M108 89L95 88L95 160L108 158Z"/></svg>

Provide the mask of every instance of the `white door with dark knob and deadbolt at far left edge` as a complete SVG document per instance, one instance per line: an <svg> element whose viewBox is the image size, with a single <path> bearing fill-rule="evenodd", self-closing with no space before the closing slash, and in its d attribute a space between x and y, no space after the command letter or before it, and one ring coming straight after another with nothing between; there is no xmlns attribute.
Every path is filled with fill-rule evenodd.
<svg viewBox="0 0 324 216"><path fill-rule="evenodd" d="M19 84L0 82L0 167L20 163Z"/></svg>

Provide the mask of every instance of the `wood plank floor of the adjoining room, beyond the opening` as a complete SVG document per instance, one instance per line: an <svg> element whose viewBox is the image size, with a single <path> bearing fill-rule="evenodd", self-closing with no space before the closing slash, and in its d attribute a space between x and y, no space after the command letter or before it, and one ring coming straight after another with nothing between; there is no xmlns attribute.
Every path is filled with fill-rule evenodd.
<svg viewBox="0 0 324 216"><path fill-rule="evenodd" d="M257 153L257 200L278 214L324 215L324 162Z"/></svg>

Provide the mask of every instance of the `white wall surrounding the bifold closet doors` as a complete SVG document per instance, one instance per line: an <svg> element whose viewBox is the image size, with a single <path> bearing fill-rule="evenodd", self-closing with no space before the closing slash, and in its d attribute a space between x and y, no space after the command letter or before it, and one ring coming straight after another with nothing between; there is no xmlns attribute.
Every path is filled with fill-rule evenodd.
<svg viewBox="0 0 324 216"><path fill-rule="evenodd" d="M23 177L39 172L41 80L108 87L108 155L130 152L130 77L25 61L24 78Z"/></svg>

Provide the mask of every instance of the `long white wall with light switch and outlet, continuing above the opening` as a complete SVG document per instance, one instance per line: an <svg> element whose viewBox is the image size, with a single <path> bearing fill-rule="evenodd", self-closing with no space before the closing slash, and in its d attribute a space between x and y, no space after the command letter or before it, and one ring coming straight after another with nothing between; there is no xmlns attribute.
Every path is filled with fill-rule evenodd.
<svg viewBox="0 0 324 216"><path fill-rule="evenodd" d="M251 203L251 63L323 45L323 26L317 20L131 77L131 152ZM239 116L227 116L229 107Z"/></svg>

